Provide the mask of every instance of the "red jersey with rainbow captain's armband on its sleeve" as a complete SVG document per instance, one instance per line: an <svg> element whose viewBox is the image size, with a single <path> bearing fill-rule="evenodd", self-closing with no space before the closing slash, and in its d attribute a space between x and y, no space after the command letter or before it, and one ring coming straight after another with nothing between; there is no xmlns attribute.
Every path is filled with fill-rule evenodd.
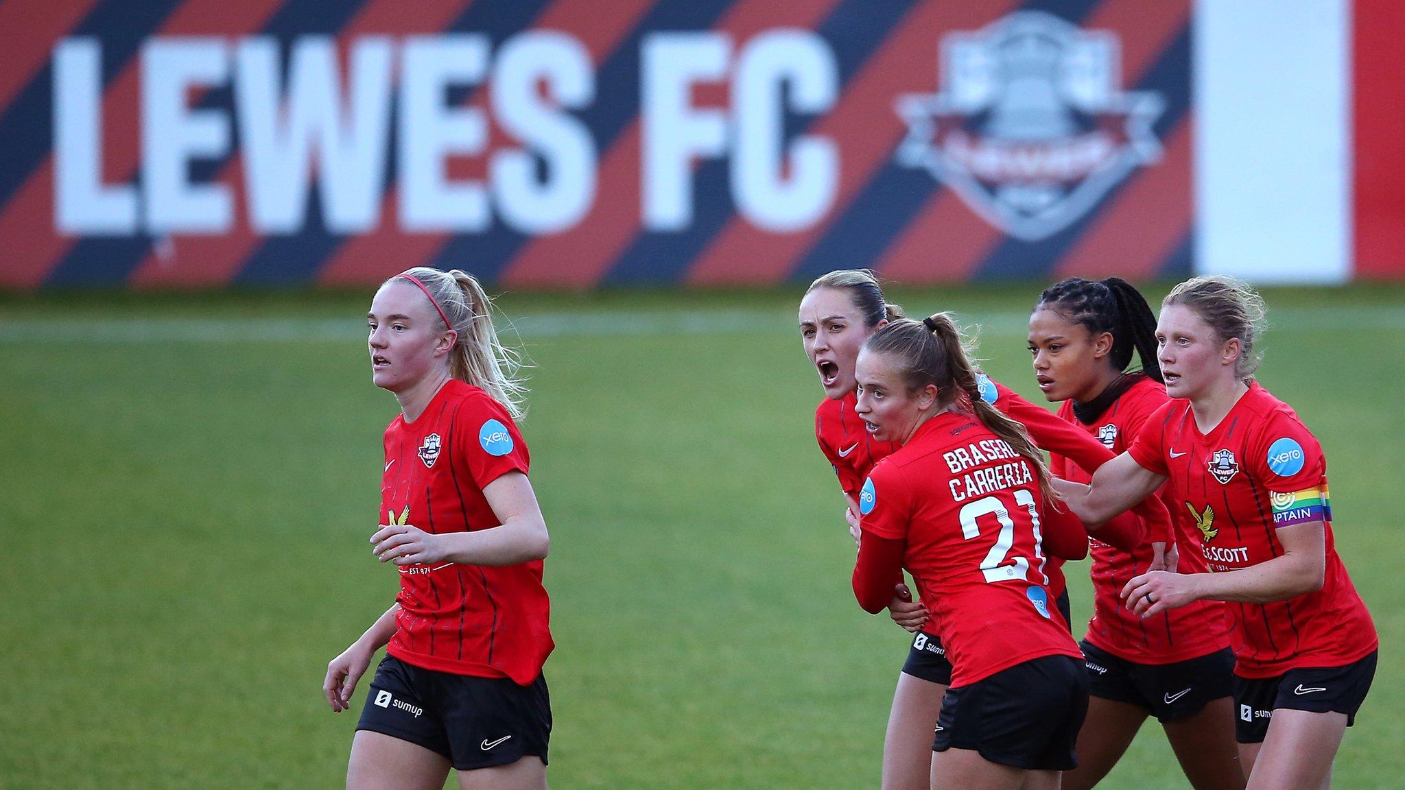
<svg viewBox="0 0 1405 790"><path fill-rule="evenodd" d="M1325 522L1322 589L1273 603L1228 604L1236 626L1236 675L1343 666L1377 648L1371 616L1336 554L1322 447L1287 403L1250 382L1220 425L1200 433L1190 402L1176 399L1146 420L1128 451L1142 468L1169 475L1172 499L1193 519L1211 572L1283 554L1276 527Z"/></svg>

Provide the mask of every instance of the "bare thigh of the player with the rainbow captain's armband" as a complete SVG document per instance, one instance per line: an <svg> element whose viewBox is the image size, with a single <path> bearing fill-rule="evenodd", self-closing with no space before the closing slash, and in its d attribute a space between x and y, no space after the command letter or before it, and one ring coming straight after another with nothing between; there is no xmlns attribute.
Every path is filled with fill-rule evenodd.
<svg viewBox="0 0 1405 790"><path fill-rule="evenodd" d="M1345 734L1345 713L1274 708L1249 790L1324 787Z"/></svg>

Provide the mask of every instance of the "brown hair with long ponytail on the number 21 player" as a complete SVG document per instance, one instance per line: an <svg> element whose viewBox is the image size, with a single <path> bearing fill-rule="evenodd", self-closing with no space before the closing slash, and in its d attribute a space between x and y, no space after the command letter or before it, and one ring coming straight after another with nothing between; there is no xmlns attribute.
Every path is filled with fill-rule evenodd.
<svg viewBox="0 0 1405 790"><path fill-rule="evenodd" d="M960 403L961 408L974 410L992 433L1030 464L1044 496L1058 499L1050 486L1044 455L1024 426L981 398L979 371L971 364L967 342L948 313L939 312L920 322L906 318L894 320L874 333L864 349L894 358L898 375L906 382L909 392L930 384L937 388L940 406Z"/></svg>

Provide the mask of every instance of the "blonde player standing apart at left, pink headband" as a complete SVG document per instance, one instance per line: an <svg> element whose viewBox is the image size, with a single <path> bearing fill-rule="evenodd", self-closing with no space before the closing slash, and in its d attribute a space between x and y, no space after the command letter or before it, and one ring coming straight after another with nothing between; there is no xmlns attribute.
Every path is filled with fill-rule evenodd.
<svg viewBox="0 0 1405 790"><path fill-rule="evenodd" d="M400 415L385 429L371 536L400 572L395 606L327 663L333 711L389 642L351 742L347 787L545 790L552 649L547 557L527 444L524 388L471 276L412 268L371 302L372 381Z"/></svg>

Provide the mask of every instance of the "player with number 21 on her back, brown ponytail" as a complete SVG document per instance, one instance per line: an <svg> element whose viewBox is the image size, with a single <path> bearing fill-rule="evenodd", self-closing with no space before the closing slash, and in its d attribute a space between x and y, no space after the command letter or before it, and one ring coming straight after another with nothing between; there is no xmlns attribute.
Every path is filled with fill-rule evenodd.
<svg viewBox="0 0 1405 790"><path fill-rule="evenodd" d="M858 356L857 415L899 446L860 492L854 595L888 604L906 568L951 659L932 787L1058 789L1087 710L1083 655L1054 613L1041 529L1048 474L981 396L951 319L899 319Z"/></svg>

